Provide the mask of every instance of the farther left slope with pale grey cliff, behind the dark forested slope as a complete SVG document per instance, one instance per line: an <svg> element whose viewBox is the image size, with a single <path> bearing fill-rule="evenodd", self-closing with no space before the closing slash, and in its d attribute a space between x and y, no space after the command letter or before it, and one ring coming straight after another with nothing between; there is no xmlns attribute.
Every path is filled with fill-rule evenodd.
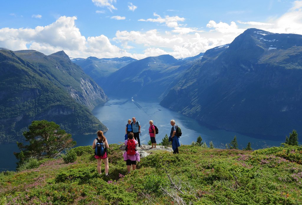
<svg viewBox="0 0 302 205"><path fill-rule="evenodd" d="M58 86L68 90L70 96L77 102L92 110L99 104L108 101L108 97L91 77L72 63L64 51L49 56L37 51L16 51L16 55L37 66L47 77Z"/></svg>

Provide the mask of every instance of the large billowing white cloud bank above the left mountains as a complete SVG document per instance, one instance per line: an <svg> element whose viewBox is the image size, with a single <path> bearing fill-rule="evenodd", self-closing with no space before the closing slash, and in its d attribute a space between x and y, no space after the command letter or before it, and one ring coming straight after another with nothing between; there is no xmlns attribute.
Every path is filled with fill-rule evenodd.
<svg viewBox="0 0 302 205"><path fill-rule="evenodd" d="M91 36L87 40L75 25L76 17L59 17L54 23L34 29L0 29L0 47L10 50L33 49L50 55L64 50L70 57L95 56L114 58L132 56L124 49L112 45L104 35Z"/></svg>

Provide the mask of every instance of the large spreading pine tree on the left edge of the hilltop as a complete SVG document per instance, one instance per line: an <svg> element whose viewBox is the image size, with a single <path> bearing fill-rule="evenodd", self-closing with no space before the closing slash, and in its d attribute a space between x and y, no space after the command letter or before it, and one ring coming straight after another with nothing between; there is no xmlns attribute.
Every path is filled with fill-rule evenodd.
<svg viewBox="0 0 302 205"><path fill-rule="evenodd" d="M29 144L24 145L17 142L21 152L14 153L21 163L29 158L53 158L62 153L63 150L76 145L71 134L66 133L54 122L32 121L28 129L29 131L23 132L23 135Z"/></svg>

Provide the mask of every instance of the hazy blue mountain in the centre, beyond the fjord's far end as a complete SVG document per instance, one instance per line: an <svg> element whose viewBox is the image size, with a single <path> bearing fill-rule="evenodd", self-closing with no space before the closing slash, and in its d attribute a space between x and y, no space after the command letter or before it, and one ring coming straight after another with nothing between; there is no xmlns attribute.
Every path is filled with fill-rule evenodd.
<svg viewBox="0 0 302 205"><path fill-rule="evenodd" d="M159 101L192 64L171 55L144 58L108 76L103 89L115 97L137 96L140 100Z"/></svg>

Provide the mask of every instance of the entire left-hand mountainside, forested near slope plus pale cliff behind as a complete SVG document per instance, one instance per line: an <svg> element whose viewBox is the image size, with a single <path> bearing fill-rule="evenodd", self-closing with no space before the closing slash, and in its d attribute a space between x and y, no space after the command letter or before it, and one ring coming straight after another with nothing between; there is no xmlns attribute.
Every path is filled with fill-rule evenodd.
<svg viewBox="0 0 302 205"><path fill-rule="evenodd" d="M0 49L0 143L24 140L33 120L54 121L71 134L107 128L90 110L104 91L65 52Z"/></svg>

